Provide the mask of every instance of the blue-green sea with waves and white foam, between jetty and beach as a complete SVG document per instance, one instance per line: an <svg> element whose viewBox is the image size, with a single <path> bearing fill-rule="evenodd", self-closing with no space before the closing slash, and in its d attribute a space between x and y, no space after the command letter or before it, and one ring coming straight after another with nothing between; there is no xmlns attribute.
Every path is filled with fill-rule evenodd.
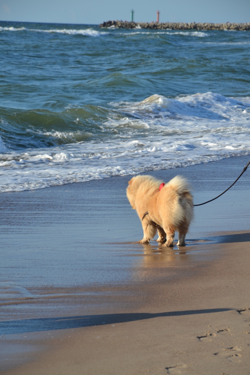
<svg viewBox="0 0 250 375"><path fill-rule="evenodd" d="M250 154L250 32L0 21L0 192Z"/></svg>

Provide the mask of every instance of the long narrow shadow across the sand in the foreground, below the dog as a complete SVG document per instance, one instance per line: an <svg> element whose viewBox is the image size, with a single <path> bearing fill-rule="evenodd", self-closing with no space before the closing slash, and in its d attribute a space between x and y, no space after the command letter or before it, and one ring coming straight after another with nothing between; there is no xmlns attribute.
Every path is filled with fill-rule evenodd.
<svg viewBox="0 0 250 375"><path fill-rule="evenodd" d="M232 309L204 309L149 313L125 313L125 314L103 314L103 315L82 315L75 317L56 317L9 320L0 322L0 335L11 335L17 333L41 332L58 329L72 329L80 327L100 326L103 324L126 323L136 320L173 317L180 315L210 314L215 312L230 311Z"/></svg>

